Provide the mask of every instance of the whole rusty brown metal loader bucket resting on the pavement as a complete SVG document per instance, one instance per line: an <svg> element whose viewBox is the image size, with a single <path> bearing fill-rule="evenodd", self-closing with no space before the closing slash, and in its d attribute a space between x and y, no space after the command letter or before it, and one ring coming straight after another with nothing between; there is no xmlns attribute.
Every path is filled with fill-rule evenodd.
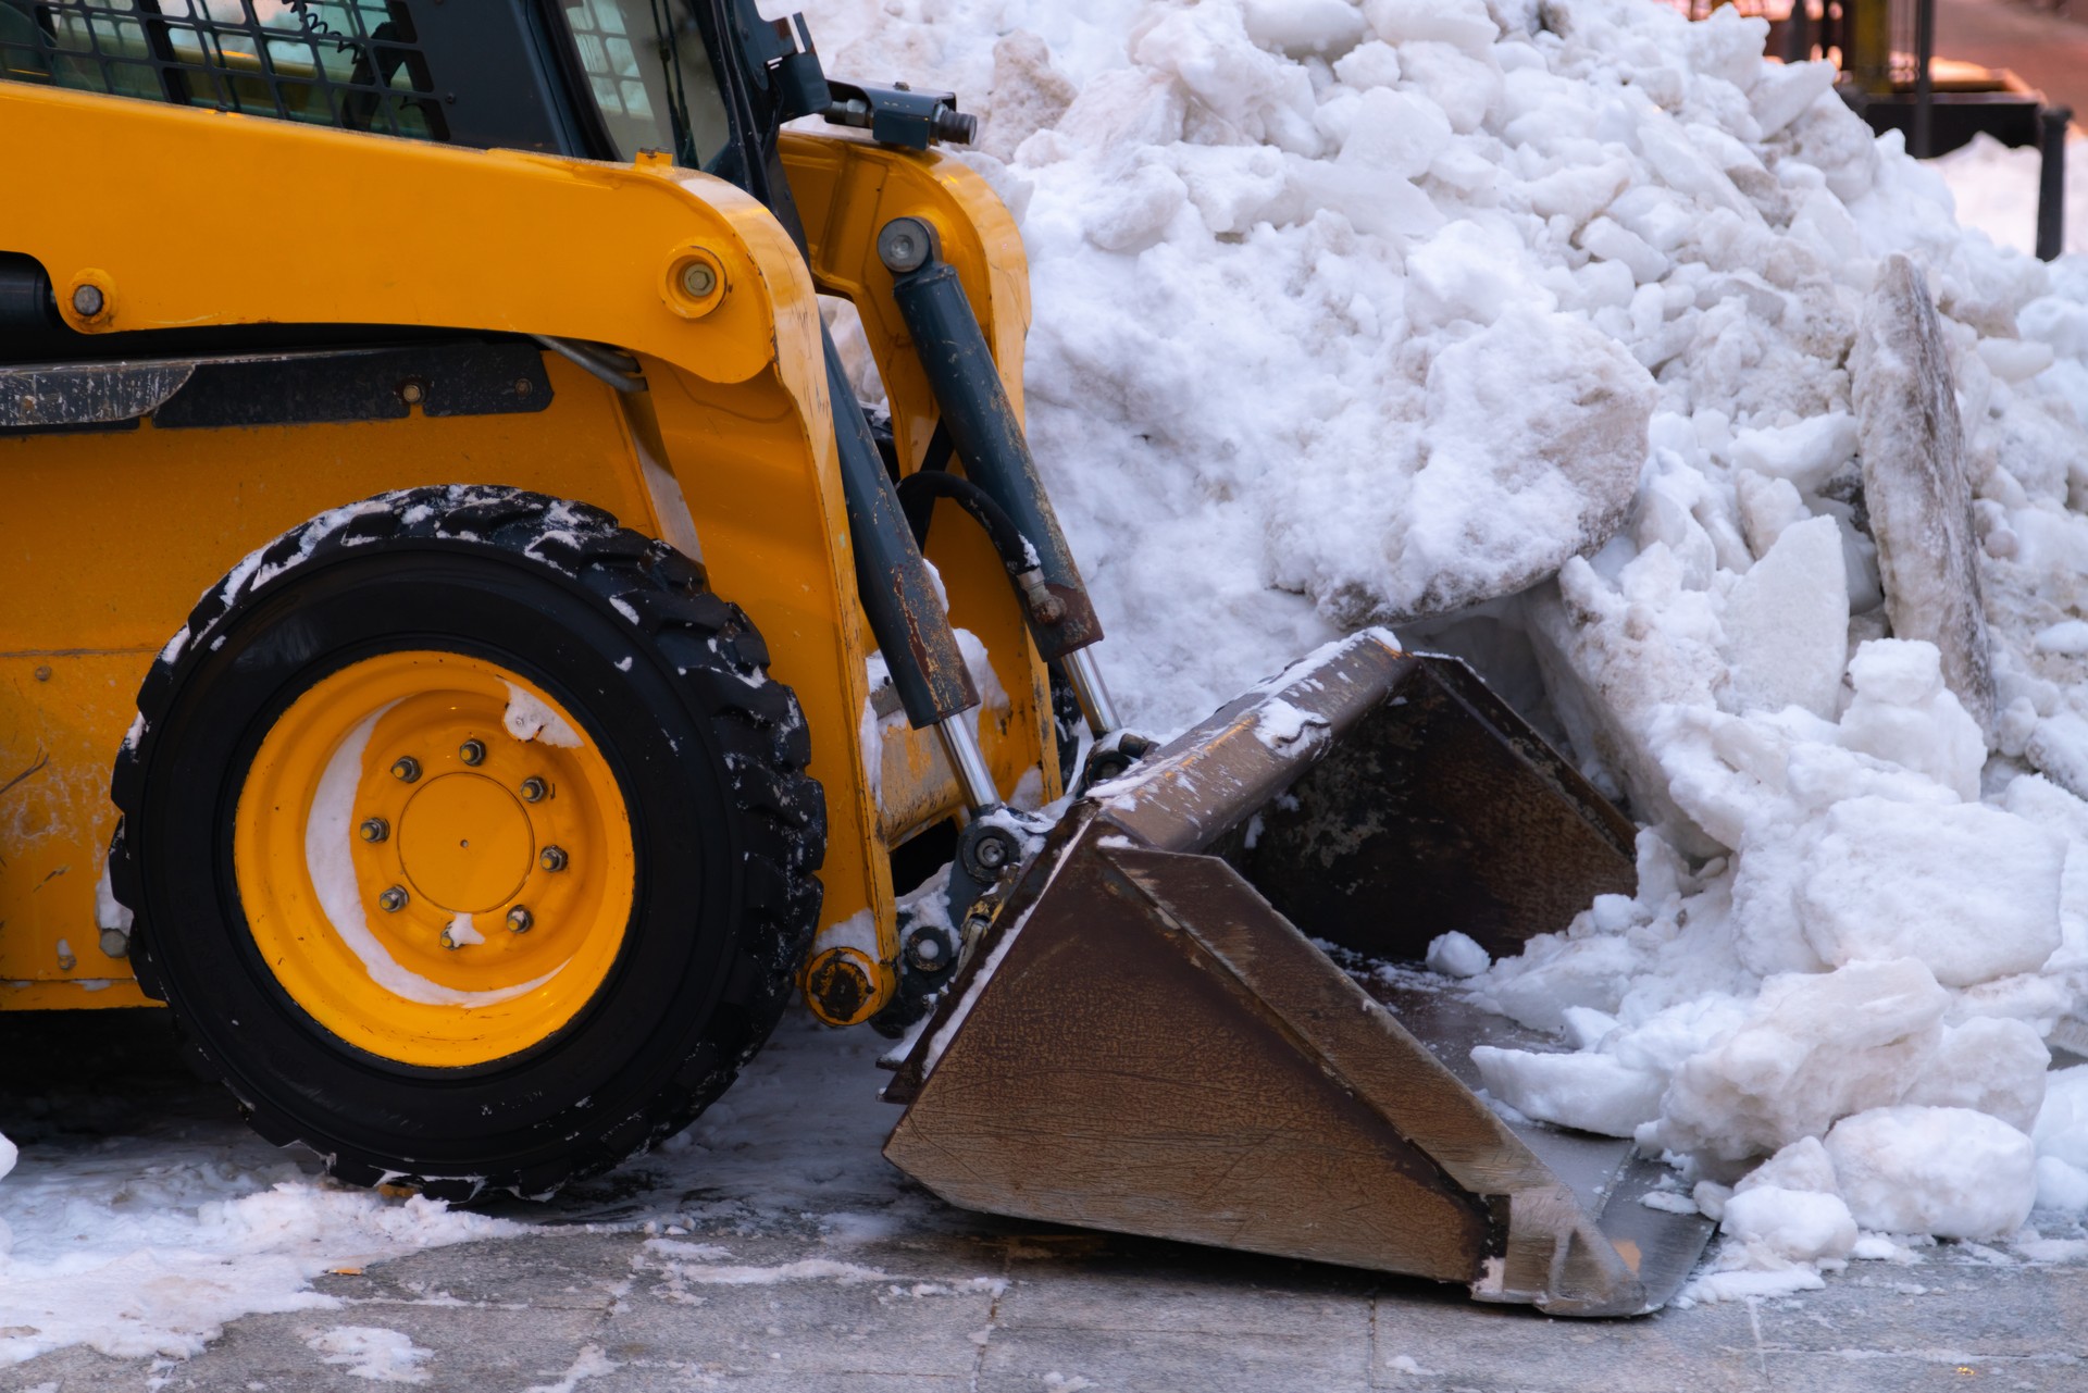
<svg viewBox="0 0 2088 1393"><path fill-rule="evenodd" d="M1311 942L1501 954L1631 890L1631 825L1514 712L1357 635L1054 829L885 1090L885 1157L971 1209L1656 1309L1710 1234L1639 1203L1660 1170L1503 1122L1470 1048L1526 1032Z"/></svg>

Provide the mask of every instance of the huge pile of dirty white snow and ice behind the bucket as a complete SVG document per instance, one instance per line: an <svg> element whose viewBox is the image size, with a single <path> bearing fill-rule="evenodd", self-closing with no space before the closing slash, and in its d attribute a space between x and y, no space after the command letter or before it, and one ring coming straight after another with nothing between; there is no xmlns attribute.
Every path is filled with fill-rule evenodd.
<svg viewBox="0 0 2088 1393"><path fill-rule="evenodd" d="M2088 1080L2046 1080L2088 973L2088 261L1961 230L1731 8L812 21L986 113L1138 721L1397 622L1647 825L1635 898L1430 954L1574 1046L1482 1053L1501 1101L1670 1153L1733 1291L2088 1207Z"/></svg>

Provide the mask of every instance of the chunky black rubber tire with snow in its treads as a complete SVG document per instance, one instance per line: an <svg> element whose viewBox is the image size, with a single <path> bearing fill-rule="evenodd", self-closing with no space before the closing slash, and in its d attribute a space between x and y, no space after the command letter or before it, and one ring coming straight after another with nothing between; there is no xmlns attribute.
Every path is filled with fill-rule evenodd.
<svg viewBox="0 0 2088 1393"><path fill-rule="evenodd" d="M269 725L326 675L401 647L522 672L608 758L637 894L593 1000L466 1069L380 1059L261 961L232 819ZM253 1126L349 1182L545 1197L687 1126L752 1059L818 919L825 802L768 652L702 568L583 503L501 487L388 493L282 535L188 618L115 764L132 963L190 1061Z"/></svg>

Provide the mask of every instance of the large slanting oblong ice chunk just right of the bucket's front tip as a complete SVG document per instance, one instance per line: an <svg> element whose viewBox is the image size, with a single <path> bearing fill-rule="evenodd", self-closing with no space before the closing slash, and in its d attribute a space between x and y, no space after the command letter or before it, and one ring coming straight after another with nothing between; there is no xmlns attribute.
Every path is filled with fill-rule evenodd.
<svg viewBox="0 0 2088 1393"><path fill-rule="evenodd" d="M1658 1140L1737 1161L1896 1103L1948 1005L1913 959L1771 977L1746 1025L1675 1071Z"/></svg>

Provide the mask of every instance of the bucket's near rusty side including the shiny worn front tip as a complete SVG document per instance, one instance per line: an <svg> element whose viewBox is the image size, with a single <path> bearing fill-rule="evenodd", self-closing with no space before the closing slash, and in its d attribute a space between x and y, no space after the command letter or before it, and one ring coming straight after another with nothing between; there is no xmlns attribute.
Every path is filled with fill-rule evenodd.
<svg viewBox="0 0 2088 1393"><path fill-rule="evenodd" d="M1034 881L892 1090L887 1159L950 1203L1570 1316L1652 1309L1645 1253L1702 1249L1608 1232L1643 1188L1614 1147L1518 1134L1224 860L1090 814Z"/></svg>

